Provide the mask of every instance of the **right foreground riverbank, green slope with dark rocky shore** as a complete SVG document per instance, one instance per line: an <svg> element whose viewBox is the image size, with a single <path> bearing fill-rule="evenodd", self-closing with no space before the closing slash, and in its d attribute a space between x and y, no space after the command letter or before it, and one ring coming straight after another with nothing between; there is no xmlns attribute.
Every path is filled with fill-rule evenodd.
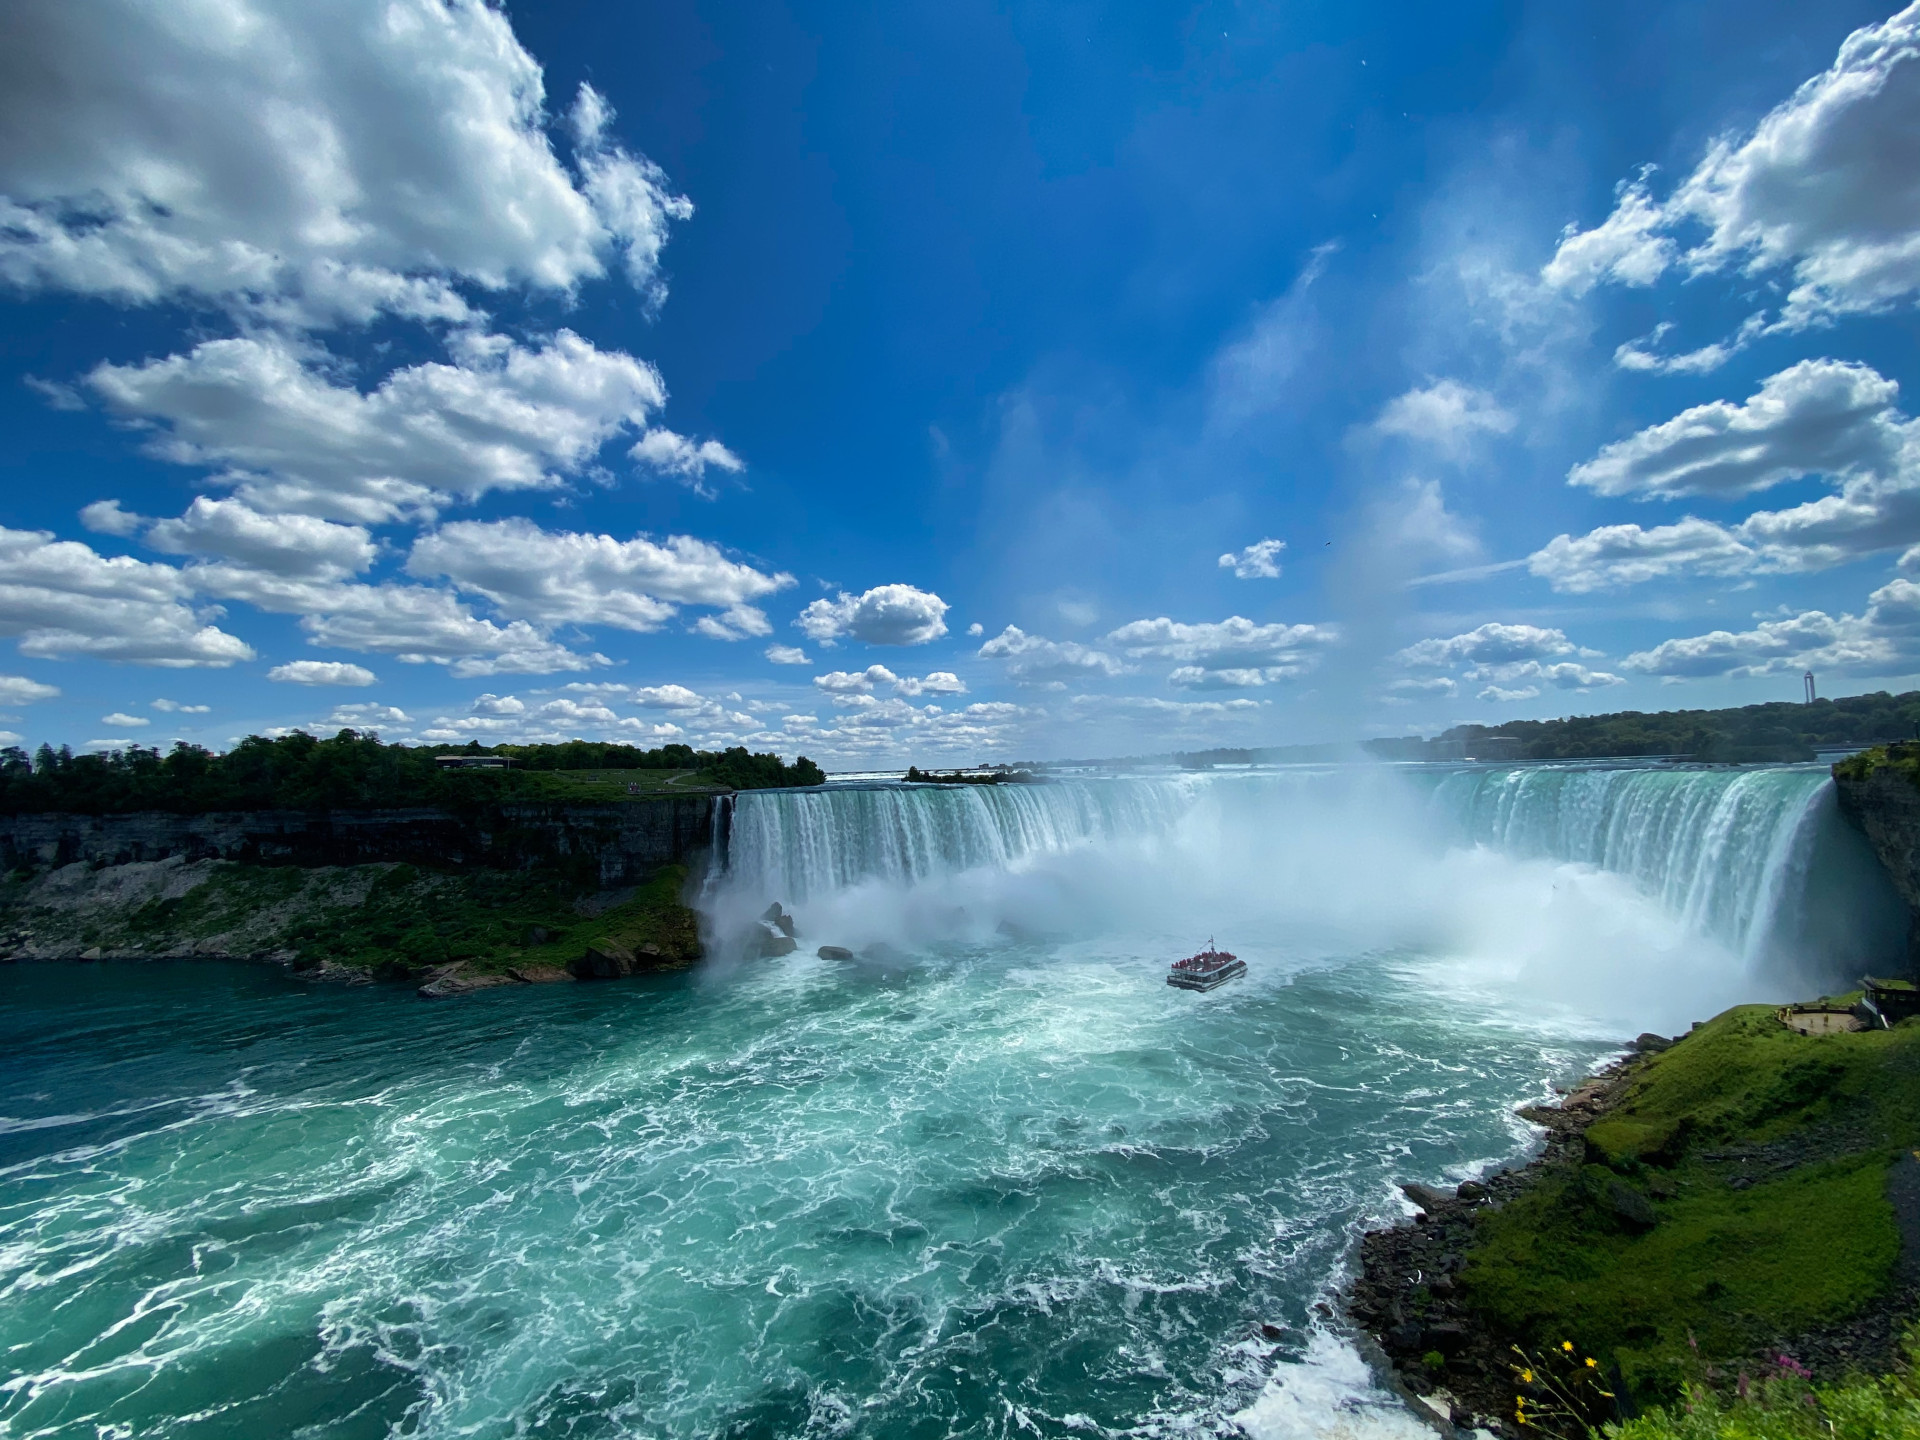
<svg viewBox="0 0 1920 1440"><path fill-rule="evenodd" d="M1628 1407L1789 1356L1887 1371L1920 1313L1920 1021L1797 1035L1738 1006L1523 1116L1524 1167L1361 1242L1348 1313L1398 1380L1517 1434L1532 1357L1571 1344Z"/></svg>

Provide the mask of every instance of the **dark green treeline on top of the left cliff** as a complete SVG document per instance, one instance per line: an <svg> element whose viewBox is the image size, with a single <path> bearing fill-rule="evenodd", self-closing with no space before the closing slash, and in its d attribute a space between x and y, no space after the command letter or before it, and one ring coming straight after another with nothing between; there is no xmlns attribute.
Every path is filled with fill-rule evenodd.
<svg viewBox="0 0 1920 1440"><path fill-rule="evenodd" d="M507 770L447 768L442 755L497 755ZM177 743L171 751L129 747L73 755L42 745L35 755L0 749L0 814L131 814L167 810L388 810L442 808L470 812L509 803L574 799L566 772L687 772L691 787L764 789L818 785L820 766L804 755L787 764L745 747L720 753L687 745L643 751L634 745L568 741L564 745L432 747L386 745L376 735L342 730L330 739L305 732L267 739L250 735L230 751Z"/></svg>

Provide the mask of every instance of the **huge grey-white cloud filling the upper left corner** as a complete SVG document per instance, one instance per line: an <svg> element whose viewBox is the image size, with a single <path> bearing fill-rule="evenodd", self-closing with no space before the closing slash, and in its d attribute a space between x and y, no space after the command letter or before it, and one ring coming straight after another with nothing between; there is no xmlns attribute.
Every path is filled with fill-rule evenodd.
<svg viewBox="0 0 1920 1440"><path fill-rule="evenodd" d="M482 0L98 0L0 21L0 278L282 323L467 319L457 284L651 288L691 213L607 132L572 167Z"/></svg>

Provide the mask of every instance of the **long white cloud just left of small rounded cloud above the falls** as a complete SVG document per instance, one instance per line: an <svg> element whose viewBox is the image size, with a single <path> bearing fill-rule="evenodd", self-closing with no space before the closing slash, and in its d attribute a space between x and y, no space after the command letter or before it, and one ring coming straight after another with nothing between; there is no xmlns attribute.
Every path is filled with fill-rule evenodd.
<svg viewBox="0 0 1920 1440"><path fill-rule="evenodd" d="M793 584L730 561L718 545L693 536L655 543L645 536L614 540L541 530L532 520L461 520L420 536L407 557L417 576L444 576L484 595L501 614L541 626L603 624L649 632L680 605L710 605L722 616L718 639L766 636L766 616L751 601Z"/></svg>

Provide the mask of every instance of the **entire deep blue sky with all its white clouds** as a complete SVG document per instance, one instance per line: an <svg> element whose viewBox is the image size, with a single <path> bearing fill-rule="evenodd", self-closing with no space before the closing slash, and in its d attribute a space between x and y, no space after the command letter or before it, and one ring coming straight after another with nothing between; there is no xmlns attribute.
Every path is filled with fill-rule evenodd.
<svg viewBox="0 0 1920 1440"><path fill-rule="evenodd" d="M0 728L829 766L1920 674L1920 8L0 19Z"/></svg>

